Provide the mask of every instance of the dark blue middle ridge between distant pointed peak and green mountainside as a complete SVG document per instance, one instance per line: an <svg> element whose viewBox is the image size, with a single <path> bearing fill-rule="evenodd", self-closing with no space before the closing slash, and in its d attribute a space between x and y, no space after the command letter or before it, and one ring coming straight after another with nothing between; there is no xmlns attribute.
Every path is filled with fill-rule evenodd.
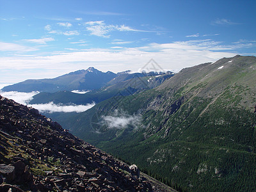
<svg viewBox="0 0 256 192"><path fill-rule="evenodd" d="M132 95L134 93L155 88L172 76L173 74L163 74L161 76L147 76L147 74L118 74L118 77L109 81L106 86L103 86L99 90L94 90L85 94L77 94L67 91L55 93L43 92L33 96L33 100L31 100L29 104L45 104L48 102L54 102L55 104L99 103L111 97Z"/></svg>

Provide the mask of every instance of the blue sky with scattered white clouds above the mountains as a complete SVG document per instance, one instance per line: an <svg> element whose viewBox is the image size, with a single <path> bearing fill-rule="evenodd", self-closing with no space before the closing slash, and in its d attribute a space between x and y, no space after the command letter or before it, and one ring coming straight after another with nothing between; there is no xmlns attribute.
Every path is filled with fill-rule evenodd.
<svg viewBox="0 0 256 192"><path fill-rule="evenodd" d="M0 84L256 55L256 1L3 1Z"/></svg>

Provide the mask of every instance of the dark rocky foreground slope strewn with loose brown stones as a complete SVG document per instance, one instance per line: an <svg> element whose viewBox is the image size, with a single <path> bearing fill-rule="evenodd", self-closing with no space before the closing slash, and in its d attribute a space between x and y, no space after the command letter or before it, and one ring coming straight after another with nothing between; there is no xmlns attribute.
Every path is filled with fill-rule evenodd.
<svg viewBox="0 0 256 192"><path fill-rule="evenodd" d="M139 174L0 96L0 191L158 191Z"/></svg>

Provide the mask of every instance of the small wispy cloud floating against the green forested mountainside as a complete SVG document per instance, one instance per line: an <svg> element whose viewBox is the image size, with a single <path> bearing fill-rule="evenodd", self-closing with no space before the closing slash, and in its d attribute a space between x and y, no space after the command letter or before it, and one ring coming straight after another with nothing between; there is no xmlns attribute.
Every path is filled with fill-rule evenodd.
<svg viewBox="0 0 256 192"><path fill-rule="evenodd" d="M124 111L115 110L112 116L102 116L100 124L107 125L109 129L137 129L141 124L141 115L128 115Z"/></svg>

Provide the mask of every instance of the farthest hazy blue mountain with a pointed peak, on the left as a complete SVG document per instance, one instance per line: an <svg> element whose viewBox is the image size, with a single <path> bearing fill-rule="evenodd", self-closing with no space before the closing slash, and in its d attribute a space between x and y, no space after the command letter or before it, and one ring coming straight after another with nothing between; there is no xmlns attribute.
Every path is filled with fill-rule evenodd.
<svg viewBox="0 0 256 192"><path fill-rule="evenodd" d="M101 72L93 67L77 70L54 79L26 80L21 83L4 87L4 92L58 92L72 90L97 90L115 78L113 72Z"/></svg>

